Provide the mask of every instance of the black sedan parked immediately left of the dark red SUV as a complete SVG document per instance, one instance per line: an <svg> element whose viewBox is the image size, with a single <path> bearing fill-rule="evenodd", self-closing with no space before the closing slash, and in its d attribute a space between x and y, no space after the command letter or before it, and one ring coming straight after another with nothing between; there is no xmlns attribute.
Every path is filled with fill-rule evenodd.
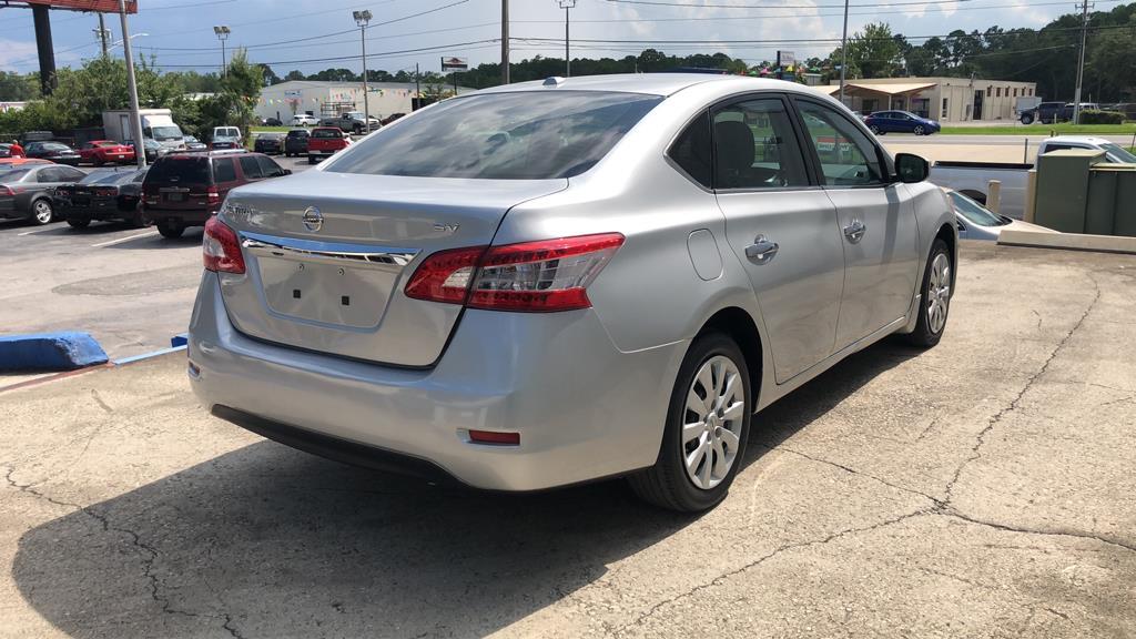
<svg viewBox="0 0 1136 639"><path fill-rule="evenodd" d="M144 226L141 194L148 169L94 171L78 182L55 190L56 215L74 229L91 221L124 219Z"/></svg>

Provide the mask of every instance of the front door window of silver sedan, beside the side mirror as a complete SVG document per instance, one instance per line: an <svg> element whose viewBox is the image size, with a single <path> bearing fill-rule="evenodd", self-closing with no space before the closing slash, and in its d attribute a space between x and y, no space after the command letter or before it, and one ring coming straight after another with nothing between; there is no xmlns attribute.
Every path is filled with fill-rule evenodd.
<svg viewBox="0 0 1136 639"><path fill-rule="evenodd" d="M863 186L884 183L876 146L836 110L816 102L797 102L804 128L817 151L825 183Z"/></svg>

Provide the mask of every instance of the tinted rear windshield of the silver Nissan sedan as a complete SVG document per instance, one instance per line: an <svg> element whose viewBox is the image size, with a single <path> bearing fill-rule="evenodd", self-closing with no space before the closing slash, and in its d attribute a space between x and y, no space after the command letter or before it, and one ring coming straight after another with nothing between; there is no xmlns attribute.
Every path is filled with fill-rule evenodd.
<svg viewBox="0 0 1136 639"><path fill-rule="evenodd" d="M327 171L419 177L549 180L600 161L658 96L563 91L457 98L354 146Z"/></svg>

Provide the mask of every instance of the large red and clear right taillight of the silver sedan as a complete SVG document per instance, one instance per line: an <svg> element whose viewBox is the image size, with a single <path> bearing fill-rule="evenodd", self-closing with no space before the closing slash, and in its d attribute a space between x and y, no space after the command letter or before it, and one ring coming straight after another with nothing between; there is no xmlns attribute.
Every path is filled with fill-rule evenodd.
<svg viewBox="0 0 1136 639"><path fill-rule="evenodd" d="M407 296L490 310L587 308L587 285L623 243L603 233L441 251L418 267Z"/></svg>

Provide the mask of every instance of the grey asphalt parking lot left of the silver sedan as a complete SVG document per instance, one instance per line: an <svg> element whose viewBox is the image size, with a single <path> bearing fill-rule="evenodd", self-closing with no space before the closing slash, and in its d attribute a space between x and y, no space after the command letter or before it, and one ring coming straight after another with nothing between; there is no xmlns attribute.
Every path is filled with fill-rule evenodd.
<svg viewBox="0 0 1136 639"><path fill-rule="evenodd" d="M277 160L310 168L306 159ZM0 332L87 331L111 358L168 347L189 325L201 231L172 241L117 223L0 223Z"/></svg>

